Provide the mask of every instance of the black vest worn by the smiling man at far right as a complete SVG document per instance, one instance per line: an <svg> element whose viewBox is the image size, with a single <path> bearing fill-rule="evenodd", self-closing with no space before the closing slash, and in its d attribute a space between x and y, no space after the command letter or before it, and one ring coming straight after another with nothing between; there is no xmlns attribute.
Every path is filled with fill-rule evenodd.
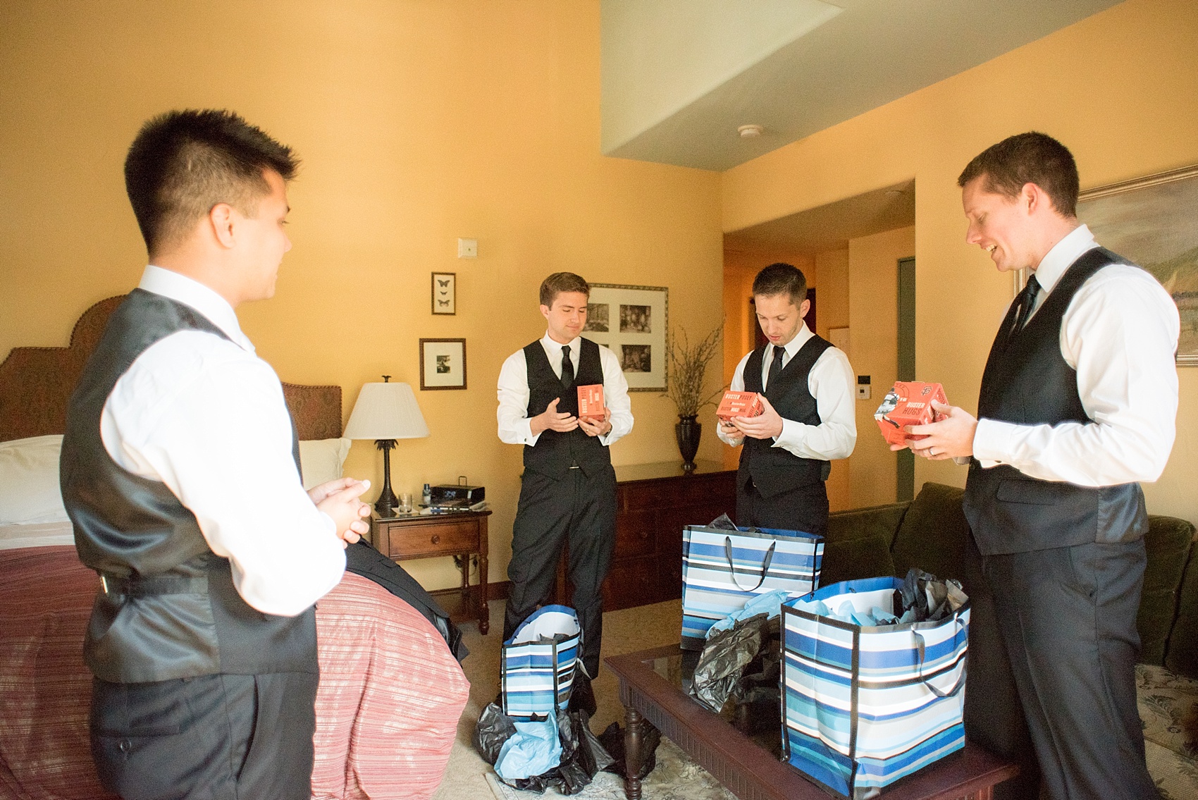
<svg viewBox="0 0 1198 800"><path fill-rule="evenodd" d="M1085 279L1112 263L1126 261L1102 248L1082 255L1009 338L1018 305L1011 303L986 360L979 418L1018 425L1093 422L1077 393L1077 372L1060 354L1060 326ZM976 460L969 465L963 505L984 556L1135 541L1148 531L1139 484L1076 486L1031 478L1009 465L984 469Z"/></svg>

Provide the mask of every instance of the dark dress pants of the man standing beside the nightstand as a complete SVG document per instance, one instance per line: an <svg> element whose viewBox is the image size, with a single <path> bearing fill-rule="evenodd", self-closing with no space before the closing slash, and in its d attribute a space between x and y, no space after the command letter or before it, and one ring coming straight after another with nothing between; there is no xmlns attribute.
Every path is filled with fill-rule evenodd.
<svg viewBox="0 0 1198 800"><path fill-rule="evenodd" d="M582 666L599 674L603 642L603 581L616 546L616 471L607 466L570 469L561 480L525 469L520 505L512 526L507 613L503 641L549 600L557 580L562 546L569 544L568 575L573 605L582 626Z"/></svg>

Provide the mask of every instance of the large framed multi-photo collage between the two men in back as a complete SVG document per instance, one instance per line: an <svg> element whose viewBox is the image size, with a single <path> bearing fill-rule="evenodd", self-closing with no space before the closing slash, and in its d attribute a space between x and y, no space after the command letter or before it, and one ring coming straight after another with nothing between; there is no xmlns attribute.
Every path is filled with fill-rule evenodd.
<svg viewBox="0 0 1198 800"><path fill-rule="evenodd" d="M616 353L629 392L666 389L667 296L665 286L591 284L582 335Z"/></svg>

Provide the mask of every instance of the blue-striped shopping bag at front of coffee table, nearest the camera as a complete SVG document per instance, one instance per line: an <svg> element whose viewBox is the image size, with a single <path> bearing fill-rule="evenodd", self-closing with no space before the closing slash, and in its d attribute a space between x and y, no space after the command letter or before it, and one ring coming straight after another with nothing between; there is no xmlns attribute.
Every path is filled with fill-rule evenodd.
<svg viewBox="0 0 1198 800"><path fill-rule="evenodd" d="M860 800L964 746L969 604L938 622L863 626L804 610L849 600L890 612L893 577L846 581L782 604L782 750Z"/></svg>

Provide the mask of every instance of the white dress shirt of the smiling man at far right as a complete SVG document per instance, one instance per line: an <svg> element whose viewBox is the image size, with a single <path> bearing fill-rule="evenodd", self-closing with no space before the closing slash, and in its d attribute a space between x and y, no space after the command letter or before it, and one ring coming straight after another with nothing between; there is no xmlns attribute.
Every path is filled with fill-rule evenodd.
<svg viewBox="0 0 1198 800"><path fill-rule="evenodd" d="M1065 271L1097 247L1085 225L1058 242L1035 269L1043 305ZM1112 486L1161 477L1176 434L1178 307L1139 267L1112 265L1073 295L1060 326L1060 353L1077 370L1077 393L1093 423L1017 425L978 420L974 457L1042 480Z"/></svg>

